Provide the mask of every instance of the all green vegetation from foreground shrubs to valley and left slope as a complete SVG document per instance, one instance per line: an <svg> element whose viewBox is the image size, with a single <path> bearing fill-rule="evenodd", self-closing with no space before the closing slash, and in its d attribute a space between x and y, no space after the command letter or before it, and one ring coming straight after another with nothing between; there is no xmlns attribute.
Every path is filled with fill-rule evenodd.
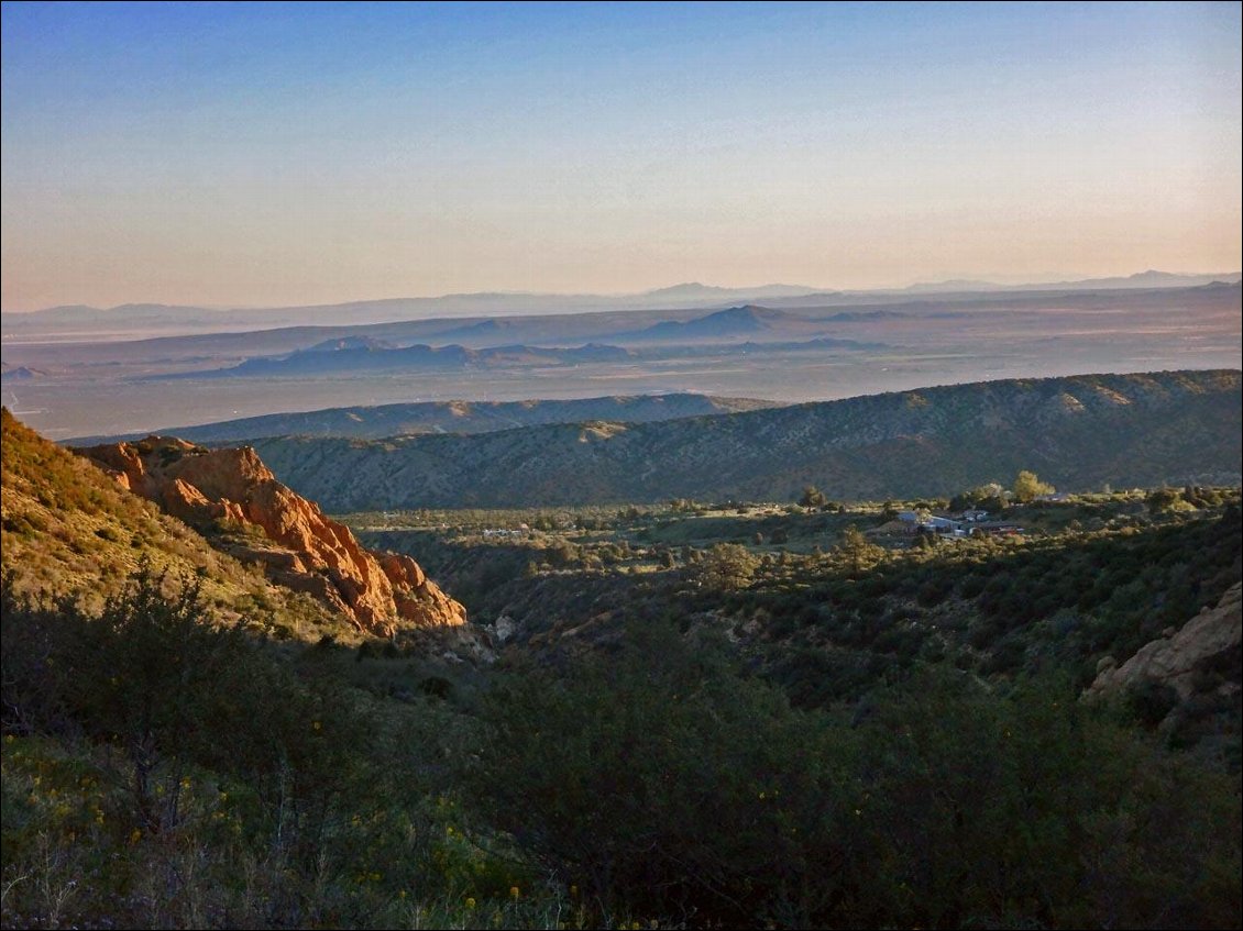
<svg viewBox="0 0 1243 931"><path fill-rule="evenodd" d="M932 498L351 518L491 637L452 653L288 637L111 479L4 456L5 926L1243 922L1237 650L1083 699L1238 583L1237 488L958 495L1014 536L906 534ZM30 571L88 539L133 571Z"/></svg>

